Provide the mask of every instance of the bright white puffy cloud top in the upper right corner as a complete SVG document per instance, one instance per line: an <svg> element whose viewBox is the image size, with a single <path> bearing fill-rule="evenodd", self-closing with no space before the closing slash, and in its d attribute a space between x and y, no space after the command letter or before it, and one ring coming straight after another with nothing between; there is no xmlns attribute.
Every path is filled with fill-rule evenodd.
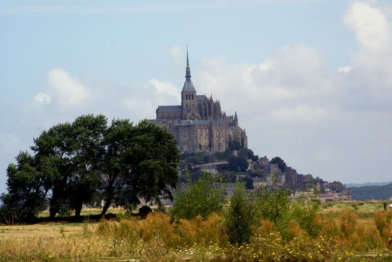
<svg viewBox="0 0 392 262"><path fill-rule="evenodd" d="M355 32L362 48L379 52L389 40L389 24L383 11L367 2L353 2L343 17L344 24Z"/></svg>

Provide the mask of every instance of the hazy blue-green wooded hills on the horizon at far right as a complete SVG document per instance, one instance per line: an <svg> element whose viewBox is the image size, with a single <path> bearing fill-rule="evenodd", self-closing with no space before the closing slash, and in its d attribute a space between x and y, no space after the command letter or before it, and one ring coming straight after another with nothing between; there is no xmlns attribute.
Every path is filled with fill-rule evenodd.
<svg viewBox="0 0 392 262"><path fill-rule="evenodd" d="M353 200L381 199L389 200L392 197L392 183L384 186L364 186L352 188Z"/></svg>

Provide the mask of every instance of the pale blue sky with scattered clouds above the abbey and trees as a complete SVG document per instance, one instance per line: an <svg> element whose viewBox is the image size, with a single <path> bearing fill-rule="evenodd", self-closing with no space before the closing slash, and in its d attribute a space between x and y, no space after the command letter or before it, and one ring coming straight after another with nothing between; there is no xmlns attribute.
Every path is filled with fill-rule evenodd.
<svg viewBox="0 0 392 262"><path fill-rule="evenodd" d="M237 111L248 147L299 174L390 181L392 3L0 1L0 192L44 130L83 114L155 118L197 94Z"/></svg>

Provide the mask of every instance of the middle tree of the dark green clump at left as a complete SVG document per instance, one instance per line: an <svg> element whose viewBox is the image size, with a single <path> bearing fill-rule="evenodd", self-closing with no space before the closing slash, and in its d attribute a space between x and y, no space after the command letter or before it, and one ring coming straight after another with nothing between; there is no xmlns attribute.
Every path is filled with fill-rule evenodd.
<svg viewBox="0 0 392 262"><path fill-rule="evenodd" d="M80 215L83 204L96 194L101 141L106 130L104 115L82 115L58 124L34 139L31 149L40 162L50 163L51 197L49 216L71 209Z"/></svg>

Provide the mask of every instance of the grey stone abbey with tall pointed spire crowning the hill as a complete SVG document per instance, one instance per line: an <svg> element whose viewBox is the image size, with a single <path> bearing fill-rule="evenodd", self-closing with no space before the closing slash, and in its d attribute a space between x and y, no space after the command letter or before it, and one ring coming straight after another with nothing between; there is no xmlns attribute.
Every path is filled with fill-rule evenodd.
<svg viewBox="0 0 392 262"><path fill-rule="evenodd" d="M226 115L217 100L196 95L191 81L188 51L185 83L181 91L181 105L159 106L156 119L174 134L181 152L222 152L226 149L247 148L245 130L238 126L237 112Z"/></svg>

